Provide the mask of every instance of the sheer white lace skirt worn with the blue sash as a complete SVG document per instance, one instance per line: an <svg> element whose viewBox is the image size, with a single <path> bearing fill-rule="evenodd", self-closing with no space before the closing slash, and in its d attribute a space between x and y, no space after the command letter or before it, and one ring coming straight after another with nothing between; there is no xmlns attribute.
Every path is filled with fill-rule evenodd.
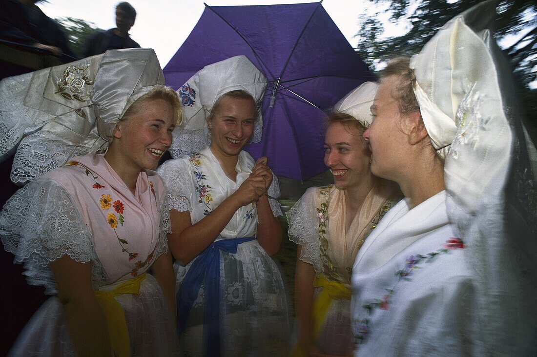
<svg viewBox="0 0 537 357"><path fill-rule="evenodd" d="M176 261L177 289L190 264ZM179 337L181 355L204 356L204 284ZM179 302L177 304L179 306ZM286 356L289 320L277 265L257 241L237 253L220 251L220 352L222 356Z"/></svg>

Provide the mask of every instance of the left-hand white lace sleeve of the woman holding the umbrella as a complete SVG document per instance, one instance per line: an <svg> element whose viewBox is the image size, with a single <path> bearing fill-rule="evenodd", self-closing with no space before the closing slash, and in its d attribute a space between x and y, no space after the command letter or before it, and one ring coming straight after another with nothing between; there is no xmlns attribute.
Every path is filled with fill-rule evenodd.
<svg viewBox="0 0 537 357"><path fill-rule="evenodd" d="M157 172L166 185L169 207L178 212L192 211L192 186L191 170L185 159L168 160L158 167Z"/></svg>

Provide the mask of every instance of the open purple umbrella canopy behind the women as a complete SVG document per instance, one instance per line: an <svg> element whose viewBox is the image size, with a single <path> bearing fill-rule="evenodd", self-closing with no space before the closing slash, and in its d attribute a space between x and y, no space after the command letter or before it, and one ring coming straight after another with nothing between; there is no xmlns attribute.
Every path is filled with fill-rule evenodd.
<svg viewBox="0 0 537 357"><path fill-rule="evenodd" d="M306 180L326 170L324 112L375 77L321 3L207 6L164 67L176 90L198 70L245 55L269 81L263 100L263 139L245 149L269 157L271 169Z"/></svg>

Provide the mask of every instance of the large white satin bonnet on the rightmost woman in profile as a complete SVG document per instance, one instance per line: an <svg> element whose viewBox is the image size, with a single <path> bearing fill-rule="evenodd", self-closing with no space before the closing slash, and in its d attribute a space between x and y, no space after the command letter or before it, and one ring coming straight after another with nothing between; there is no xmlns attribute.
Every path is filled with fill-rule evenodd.
<svg viewBox="0 0 537 357"><path fill-rule="evenodd" d="M492 38L495 5L482 2L456 16L411 59L425 127L445 158L446 188L467 212L500 194L509 170L505 106L512 88L500 85L509 67Z"/></svg>

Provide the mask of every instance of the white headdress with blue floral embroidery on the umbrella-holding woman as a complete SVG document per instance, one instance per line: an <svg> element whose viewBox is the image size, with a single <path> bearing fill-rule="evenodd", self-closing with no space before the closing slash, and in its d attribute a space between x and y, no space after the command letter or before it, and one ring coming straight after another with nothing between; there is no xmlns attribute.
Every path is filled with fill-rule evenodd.
<svg viewBox="0 0 537 357"><path fill-rule="evenodd" d="M260 102L266 86L265 76L246 56L235 56L205 66L178 90L183 102L183 124L173 130L170 154L179 158L211 144L207 118L217 99L238 89L248 92L257 104L258 119L251 142L259 142L263 132Z"/></svg>

